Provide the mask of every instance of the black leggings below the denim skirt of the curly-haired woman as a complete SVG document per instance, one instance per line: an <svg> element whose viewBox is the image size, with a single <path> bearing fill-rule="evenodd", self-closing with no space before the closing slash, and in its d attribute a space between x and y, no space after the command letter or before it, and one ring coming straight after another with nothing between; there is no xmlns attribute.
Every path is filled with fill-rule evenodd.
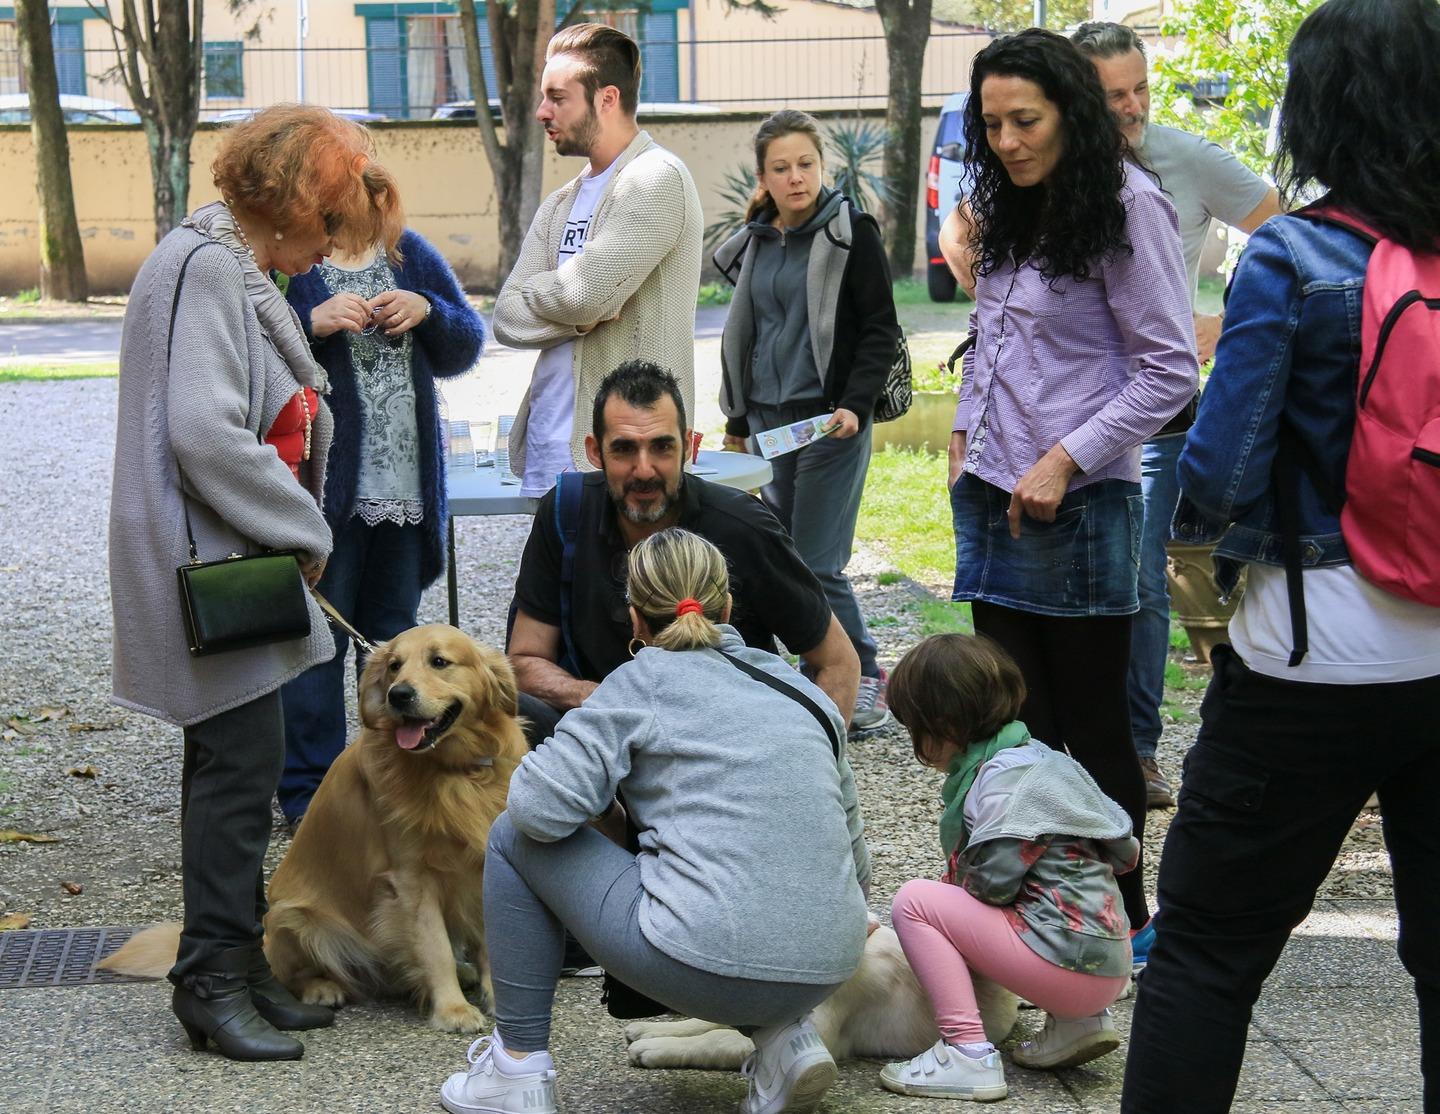
<svg viewBox="0 0 1440 1114"><path fill-rule="evenodd" d="M1128 688L1132 616L1035 615L981 600L971 607L975 629L1004 646L1025 678L1020 718L1030 734L1068 751L1125 809L1143 845L1145 774L1130 737ZM1116 881L1130 927L1142 927L1149 920L1143 851Z"/></svg>

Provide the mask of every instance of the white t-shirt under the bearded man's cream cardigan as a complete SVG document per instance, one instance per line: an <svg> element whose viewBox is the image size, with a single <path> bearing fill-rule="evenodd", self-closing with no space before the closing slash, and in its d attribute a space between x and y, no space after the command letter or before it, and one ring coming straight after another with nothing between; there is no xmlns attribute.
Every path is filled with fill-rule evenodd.
<svg viewBox="0 0 1440 1114"><path fill-rule="evenodd" d="M599 174L583 174L570 216L560 239L559 268L570 256L585 250L595 204L615 173L611 163ZM575 429L575 341L563 341L546 348L536 358L530 379L530 416L526 425L526 475L520 494L531 498L544 495L554 486L557 472L573 472L570 432Z"/></svg>

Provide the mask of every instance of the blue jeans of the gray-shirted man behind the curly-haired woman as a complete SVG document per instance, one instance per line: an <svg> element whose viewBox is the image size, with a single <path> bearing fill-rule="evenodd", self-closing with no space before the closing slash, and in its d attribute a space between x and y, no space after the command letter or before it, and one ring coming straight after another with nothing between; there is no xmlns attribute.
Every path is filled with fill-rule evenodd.
<svg viewBox="0 0 1440 1114"><path fill-rule="evenodd" d="M1145 442L1140 450L1140 610L1130 628L1130 735L1135 753L1153 758L1161 741L1161 704L1165 701L1165 661L1169 656L1169 580L1165 574L1165 540L1179 502L1175 463L1185 435Z"/></svg>

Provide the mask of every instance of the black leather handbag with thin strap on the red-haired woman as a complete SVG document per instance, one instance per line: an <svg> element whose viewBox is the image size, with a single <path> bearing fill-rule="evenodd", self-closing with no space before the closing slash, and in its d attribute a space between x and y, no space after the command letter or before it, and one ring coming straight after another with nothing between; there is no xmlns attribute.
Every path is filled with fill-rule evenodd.
<svg viewBox="0 0 1440 1114"><path fill-rule="evenodd" d="M170 304L170 334L166 340L166 366L174 344L176 312L180 308L180 284L194 253L209 245L192 249L180 265L174 299ZM190 504L184 494L184 472L179 459L180 502L184 510L184 533L190 540L190 560L176 569L180 581L180 613L184 619L186 645L190 655L264 646L269 642L289 642L310 635L310 607L305 603L305 580L292 551L256 554L232 553L219 561L202 561L190 528Z"/></svg>

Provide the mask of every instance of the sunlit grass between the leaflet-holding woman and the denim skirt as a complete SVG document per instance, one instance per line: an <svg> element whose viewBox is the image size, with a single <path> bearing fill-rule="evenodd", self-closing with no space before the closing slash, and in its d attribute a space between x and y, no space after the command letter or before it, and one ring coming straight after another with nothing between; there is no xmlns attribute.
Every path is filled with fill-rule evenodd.
<svg viewBox="0 0 1440 1114"><path fill-rule="evenodd" d="M922 584L949 584L955 576L955 531L943 453L887 448L870 458L857 537Z"/></svg>

